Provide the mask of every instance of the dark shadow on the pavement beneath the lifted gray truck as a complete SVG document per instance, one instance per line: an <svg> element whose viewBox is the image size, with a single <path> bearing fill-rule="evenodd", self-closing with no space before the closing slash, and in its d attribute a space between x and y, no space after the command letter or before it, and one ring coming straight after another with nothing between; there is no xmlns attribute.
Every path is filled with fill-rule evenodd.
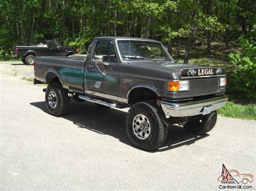
<svg viewBox="0 0 256 191"><path fill-rule="evenodd" d="M33 102L30 104L48 113L45 102ZM119 139L122 143L134 147L126 136L126 114L125 111L117 109L100 109L93 103L81 104L72 101L69 105L69 113L62 116L62 118L73 122L77 128L90 130L101 135L109 135ZM150 152L163 152L180 146L191 145L207 136L208 134L204 136L193 135L178 125L170 125L166 142L158 150Z"/></svg>

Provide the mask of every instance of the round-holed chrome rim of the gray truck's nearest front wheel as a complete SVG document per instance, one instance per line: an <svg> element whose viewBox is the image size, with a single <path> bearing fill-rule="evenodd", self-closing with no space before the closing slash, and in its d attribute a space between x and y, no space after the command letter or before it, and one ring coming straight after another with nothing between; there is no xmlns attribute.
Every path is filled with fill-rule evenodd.
<svg viewBox="0 0 256 191"><path fill-rule="evenodd" d="M150 122L149 119L143 115L138 114L133 118L133 132L139 139L146 139L150 135Z"/></svg>

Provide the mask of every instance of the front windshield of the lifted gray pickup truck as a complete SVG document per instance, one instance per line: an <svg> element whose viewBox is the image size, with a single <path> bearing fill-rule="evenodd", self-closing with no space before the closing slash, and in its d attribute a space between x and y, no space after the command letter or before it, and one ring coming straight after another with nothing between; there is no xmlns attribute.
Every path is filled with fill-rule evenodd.
<svg viewBox="0 0 256 191"><path fill-rule="evenodd" d="M143 40L118 40L122 59L127 60L171 60L172 56L163 45Z"/></svg>

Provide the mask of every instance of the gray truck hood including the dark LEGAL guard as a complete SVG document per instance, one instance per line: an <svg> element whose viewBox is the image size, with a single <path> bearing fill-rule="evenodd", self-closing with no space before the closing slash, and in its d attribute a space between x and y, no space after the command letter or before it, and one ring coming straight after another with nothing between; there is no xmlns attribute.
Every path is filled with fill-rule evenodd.
<svg viewBox="0 0 256 191"><path fill-rule="evenodd" d="M225 75L224 68L190 65L172 61L134 61L130 65L135 67L136 73L165 79L181 79L196 76Z"/></svg>

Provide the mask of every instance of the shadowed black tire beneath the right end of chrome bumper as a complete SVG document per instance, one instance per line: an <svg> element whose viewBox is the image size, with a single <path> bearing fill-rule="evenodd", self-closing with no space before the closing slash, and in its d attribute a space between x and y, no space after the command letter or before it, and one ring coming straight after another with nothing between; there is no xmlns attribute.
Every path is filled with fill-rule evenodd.
<svg viewBox="0 0 256 191"><path fill-rule="evenodd" d="M213 111L211 114L202 116L199 119L194 119L188 121L184 128L197 135L204 135L205 133L211 131L217 122L217 112Z"/></svg>

